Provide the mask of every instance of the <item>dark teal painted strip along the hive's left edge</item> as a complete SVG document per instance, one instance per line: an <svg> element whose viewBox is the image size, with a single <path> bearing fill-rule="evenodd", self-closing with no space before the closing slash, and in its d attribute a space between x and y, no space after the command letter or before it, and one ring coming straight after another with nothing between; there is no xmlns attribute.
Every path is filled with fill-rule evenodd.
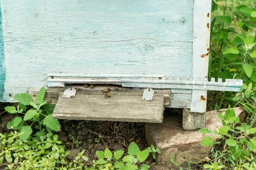
<svg viewBox="0 0 256 170"><path fill-rule="evenodd" d="M1 1L0 1L1 3ZM4 48L3 48L3 27L2 27L2 10L0 6L0 102L4 102L4 83L5 83L5 68L4 68Z"/></svg>

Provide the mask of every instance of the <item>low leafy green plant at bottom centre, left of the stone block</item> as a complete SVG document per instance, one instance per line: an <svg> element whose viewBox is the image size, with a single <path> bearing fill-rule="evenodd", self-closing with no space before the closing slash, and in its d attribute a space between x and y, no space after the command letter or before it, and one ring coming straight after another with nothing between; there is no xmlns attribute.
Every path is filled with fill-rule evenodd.
<svg viewBox="0 0 256 170"><path fill-rule="evenodd" d="M137 163L145 161L149 153L153 153L151 148L140 151L136 143L132 142L128 147L128 155L124 156L123 150L117 150L112 153L108 148L105 151L97 151L98 160L93 160L93 167L90 170L148 170L150 167L147 164L142 164L138 167ZM158 152L160 150L158 149ZM121 160L122 158L122 160Z"/></svg>

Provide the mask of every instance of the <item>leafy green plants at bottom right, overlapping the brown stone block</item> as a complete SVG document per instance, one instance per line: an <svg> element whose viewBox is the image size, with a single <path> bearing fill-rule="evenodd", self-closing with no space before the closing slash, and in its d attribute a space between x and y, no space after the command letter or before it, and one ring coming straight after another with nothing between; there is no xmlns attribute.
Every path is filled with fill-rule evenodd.
<svg viewBox="0 0 256 170"><path fill-rule="evenodd" d="M244 86L244 93L238 93L236 97L234 97L234 100L242 101L247 98L255 110L255 91L252 90L251 86L251 83L249 87ZM254 101L251 98L254 98ZM229 107L224 115L220 112L218 113L218 117L221 119L223 125L218 131L214 130L212 132L208 129L199 130L201 133L213 133L216 139L224 140L223 150L216 150L215 147L212 147L212 159L208 161L210 164L204 164L205 169L218 170L229 167L234 170L249 170L255 168L256 157L253 156L253 153L256 153L256 139L253 137L256 133L256 127L254 127L256 120L255 112L253 112L253 115L254 118L250 122L250 125L247 125L247 123L241 123L241 125L239 125L239 117L236 117L233 108L231 109ZM209 135L205 136L201 141L202 146L213 146L214 144L220 143L221 142L213 143L213 139Z"/></svg>

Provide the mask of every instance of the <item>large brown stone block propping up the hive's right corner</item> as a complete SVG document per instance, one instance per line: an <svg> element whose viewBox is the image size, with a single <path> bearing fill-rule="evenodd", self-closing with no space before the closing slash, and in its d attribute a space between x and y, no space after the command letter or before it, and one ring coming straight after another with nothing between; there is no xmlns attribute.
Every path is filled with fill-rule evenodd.
<svg viewBox="0 0 256 170"><path fill-rule="evenodd" d="M227 109L220 110L225 113ZM243 108L235 108L236 116L240 117L240 122L244 120ZM218 118L218 111L209 111L205 113L205 128L209 130L218 130L222 126L221 120ZM170 161L173 154L176 161L181 166L187 167L185 155L193 161L205 159L209 156L211 147L201 146L200 142L206 134L200 133L198 130L183 130L182 116L166 117L163 123L146 123L146 137L148 144L159 147L161 154L157 155L157 165L167 167L169 170L176 170L174 164ZM213 137L213 134L209 134ZM216 139L214 138L214 141Z"/></svg>

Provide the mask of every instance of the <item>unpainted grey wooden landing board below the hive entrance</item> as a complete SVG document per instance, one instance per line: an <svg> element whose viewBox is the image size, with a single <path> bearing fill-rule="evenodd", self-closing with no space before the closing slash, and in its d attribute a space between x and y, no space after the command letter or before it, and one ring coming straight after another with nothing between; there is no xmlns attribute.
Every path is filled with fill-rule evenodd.
<svg viewBox="0 0 256 170"><path fill-rule="evenodd" d="M122 122L163 121L164 94L154 94L153 101L142 101L143 90L111 91L110 98L99 90L77 91L75 98L63 98L60 94L54 118ZM169 91L170 94L170 91Z"/></svg>

